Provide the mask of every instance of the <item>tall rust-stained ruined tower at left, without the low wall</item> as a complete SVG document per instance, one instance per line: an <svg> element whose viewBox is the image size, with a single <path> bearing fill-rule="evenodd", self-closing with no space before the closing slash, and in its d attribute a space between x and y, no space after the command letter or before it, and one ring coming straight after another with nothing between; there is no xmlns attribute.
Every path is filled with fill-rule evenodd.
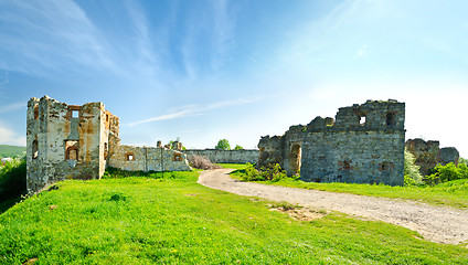
<svg viewBox="0 0 468 265"><path fill-rule="evenodd" d="M64 179L100 178L103 109L102 103L66 105L47 96L29 100L29 192Z"/></svg>

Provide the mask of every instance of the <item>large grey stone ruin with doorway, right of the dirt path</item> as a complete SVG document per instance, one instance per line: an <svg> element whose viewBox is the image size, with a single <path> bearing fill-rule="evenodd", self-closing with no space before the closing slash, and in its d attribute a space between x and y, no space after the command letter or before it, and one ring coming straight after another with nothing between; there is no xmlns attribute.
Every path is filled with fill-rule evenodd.
<svg viewBox="0 0 468 265"><path fill-rule="evenodd" d="M368 100L340 108L333 118L291 126L262 137L258 166L278 162L289 176L317 182L403 184L405 107Z"/></svg>

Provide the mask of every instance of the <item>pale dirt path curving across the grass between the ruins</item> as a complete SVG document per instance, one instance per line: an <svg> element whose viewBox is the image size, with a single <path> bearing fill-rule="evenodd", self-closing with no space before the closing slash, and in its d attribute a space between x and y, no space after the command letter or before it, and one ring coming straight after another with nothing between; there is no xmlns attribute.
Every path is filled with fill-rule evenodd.
<svg viewBox="0 0 468 265"><path fill-rule="evenodd" d="M413 201L242 182L230 178L231 171L233 170L203 171L199 183L240 195L287 201L304 206L380 220L417 231L426 240L437 243L468 242L468 211Z"/></svg>

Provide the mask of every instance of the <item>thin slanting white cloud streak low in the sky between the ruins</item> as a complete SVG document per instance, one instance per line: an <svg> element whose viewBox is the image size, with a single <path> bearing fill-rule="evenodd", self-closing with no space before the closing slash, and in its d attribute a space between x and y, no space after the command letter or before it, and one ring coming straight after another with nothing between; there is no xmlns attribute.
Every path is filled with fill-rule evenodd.
<svg viewBox="0 0 468 265"><path fill-rule="evenodd" d="M210 105L188 105L188 106L183 106L183 107L180 107L178 109L174 109L174 110L172 110L168 114L163 114L163 115L159 115L159 116L156 116L156 117L151 117L151 118L147 118L147 119L129 123L129 124L124 124L124 125L131 127L131 126L136 126L136 125L140 125L140 124L148 124L148 123L153 123L153 121L159 121L159 120L168 120L168 119L184 118L184 117L189 117L189 116L198 116L198 115L203 115L203 114L205 114L210 110L214 110L214 109L219 109L219 108L223 108L223 107L227 107L227 106L249 104L249 103L254 103L255 100L257 100L257 99L255 99L255 98L237 98L237 99L232 99L232 100L213 103L213 104L210 104Z"/></svg>

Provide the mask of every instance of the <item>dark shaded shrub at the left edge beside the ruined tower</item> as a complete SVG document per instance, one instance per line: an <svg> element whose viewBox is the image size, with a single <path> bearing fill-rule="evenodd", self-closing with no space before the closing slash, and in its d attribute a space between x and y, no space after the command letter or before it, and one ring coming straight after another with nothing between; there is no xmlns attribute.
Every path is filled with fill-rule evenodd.
<svg viewBox="0 0 468 265"><path fill-rule="evenodd" d="M13 159L0 168L0 201L26 193L26 161Z"/></svg>

